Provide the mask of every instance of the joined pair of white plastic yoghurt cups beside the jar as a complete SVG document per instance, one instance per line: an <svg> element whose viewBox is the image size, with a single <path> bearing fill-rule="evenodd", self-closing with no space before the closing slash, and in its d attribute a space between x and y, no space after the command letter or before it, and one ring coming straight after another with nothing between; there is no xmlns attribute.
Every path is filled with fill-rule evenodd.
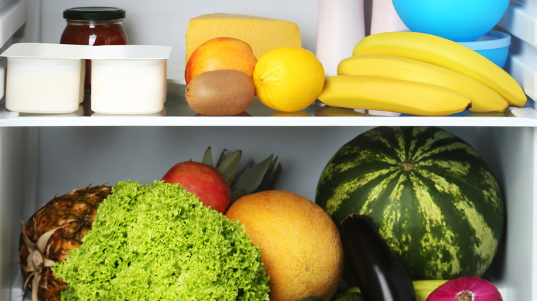
<svg viewBox="0 0 537 301"><path fill-rule="evenodd" d="M92 60L92 111L152 114L164 109L171 47L18 43L8 58L6 109L72 113L84 97L84 61Z"/></svg>

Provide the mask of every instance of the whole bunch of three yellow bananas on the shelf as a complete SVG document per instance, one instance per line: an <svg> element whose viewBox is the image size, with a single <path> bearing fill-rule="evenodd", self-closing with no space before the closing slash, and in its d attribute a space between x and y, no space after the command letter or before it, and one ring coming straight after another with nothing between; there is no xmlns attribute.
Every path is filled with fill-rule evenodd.
<svg viewBox="0 0 537 301"><path fill-rule="evenodd" d="M523 89L481 54L420 32L366 36L337 76L326 77L318 99L333 107L450 115L523 107Z"/></svg>

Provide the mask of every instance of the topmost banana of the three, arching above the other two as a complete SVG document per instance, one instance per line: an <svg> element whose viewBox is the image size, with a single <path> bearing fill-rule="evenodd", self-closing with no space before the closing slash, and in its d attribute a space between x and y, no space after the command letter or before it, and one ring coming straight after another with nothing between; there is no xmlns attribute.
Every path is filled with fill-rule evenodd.
<svg viewBox="0 0 537 301"><path fill-rule="evenodd" d="M505 70L474 50L447 38L421 32L382 32L359 41L352 55L386 54L414 58L470 76L496 90L509 105L523 107L527 97Z"/></svg>

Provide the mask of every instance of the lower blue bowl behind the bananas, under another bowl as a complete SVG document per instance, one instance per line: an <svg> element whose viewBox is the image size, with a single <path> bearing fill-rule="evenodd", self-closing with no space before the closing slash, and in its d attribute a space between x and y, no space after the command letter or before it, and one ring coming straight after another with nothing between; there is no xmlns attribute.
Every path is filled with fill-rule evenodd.
<svg viewBox="0 0 537 301"><path fill-rule="evenodd" d="M509 54L511 35L491 30L488 34L476 39L476 41L459 42L459 44L478 52L478 54L485 56L485 58L492 60L493 63L503 68Z"/></svg>

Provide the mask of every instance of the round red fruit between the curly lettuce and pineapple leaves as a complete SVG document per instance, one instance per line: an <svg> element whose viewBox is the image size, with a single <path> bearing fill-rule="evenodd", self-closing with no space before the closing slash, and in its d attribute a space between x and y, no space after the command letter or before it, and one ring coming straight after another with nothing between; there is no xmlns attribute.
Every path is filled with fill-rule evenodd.
<svg viewBox="0 0 537 301"><path fill-rule="evenodd" d="M207 207L224 214L231 202L231 188L218 169L196 161L174 165L162 177L166 183L179 183Z"/></svg>

